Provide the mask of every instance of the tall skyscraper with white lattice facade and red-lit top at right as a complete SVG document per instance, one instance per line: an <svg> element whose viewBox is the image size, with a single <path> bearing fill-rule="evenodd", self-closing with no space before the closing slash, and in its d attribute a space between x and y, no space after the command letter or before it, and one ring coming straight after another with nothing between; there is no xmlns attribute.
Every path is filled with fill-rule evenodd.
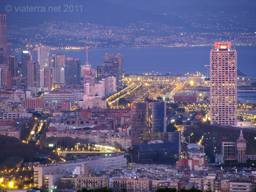
<svg viewBox="0 0 256 192"><path fill-rule="evenodd" d="M211 125L237 124L236 50L230 42L215 42L210 52Z"/></svg>

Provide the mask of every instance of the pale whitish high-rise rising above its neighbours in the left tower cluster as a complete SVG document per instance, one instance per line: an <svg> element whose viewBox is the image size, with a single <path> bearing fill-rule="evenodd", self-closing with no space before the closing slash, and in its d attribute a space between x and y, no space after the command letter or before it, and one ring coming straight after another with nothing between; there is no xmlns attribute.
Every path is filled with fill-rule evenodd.
<svg viewBox="0 0 256 192"><path fill-rule="evenodd" d="M37 48L38 63L40 68L50 67L50 47L39 46Z"/></svg>

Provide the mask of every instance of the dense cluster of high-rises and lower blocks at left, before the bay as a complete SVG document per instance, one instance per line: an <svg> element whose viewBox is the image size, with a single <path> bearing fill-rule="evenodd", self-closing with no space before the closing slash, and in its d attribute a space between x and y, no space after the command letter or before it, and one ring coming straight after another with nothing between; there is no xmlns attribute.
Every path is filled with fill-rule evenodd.
<svg viewBox="0 0 256 192"><path fill-rule="evenodd" d="M1 114L18 108L24 112L57 113L71 110L74 105L104 110L107 102L102 99L122 87L121 54L103 55L103 63L96 69L88 61L81 66L79 59L51 54L49 46L37 47L37 60L34 50L22 51L18 60L7 43L6 15L0 15L0 27Z"/></svg>

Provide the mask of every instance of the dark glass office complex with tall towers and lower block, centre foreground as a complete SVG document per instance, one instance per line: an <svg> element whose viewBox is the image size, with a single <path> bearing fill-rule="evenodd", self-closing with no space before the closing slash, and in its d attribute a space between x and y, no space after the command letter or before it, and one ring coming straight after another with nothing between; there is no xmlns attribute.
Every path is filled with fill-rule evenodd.
<svg viewBox="0 0 256 192"><path fill-rule="evenodd" d="M174 162L181 152L180 132L166 132L166 103L131 106L132 162Z"/></svg>

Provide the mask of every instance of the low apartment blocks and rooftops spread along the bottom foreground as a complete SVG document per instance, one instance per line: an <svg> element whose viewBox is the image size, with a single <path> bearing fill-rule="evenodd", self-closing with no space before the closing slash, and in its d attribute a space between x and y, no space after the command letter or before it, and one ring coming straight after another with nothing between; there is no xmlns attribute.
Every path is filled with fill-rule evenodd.
<svg viewBox="0 0 256 192"><path fill-rule="evenodd" d="M110 160L110 161L109 161ZM219 168L207 166L207 170L191 171L156 164L128 163L123 155L97 157L65 164L35 166L34 185L48 190L61 182L75 190L102 187L114 192L153 191L159 188L199 189L202 192L253 192L256 190L256 172L245 168Z"/></svg>

